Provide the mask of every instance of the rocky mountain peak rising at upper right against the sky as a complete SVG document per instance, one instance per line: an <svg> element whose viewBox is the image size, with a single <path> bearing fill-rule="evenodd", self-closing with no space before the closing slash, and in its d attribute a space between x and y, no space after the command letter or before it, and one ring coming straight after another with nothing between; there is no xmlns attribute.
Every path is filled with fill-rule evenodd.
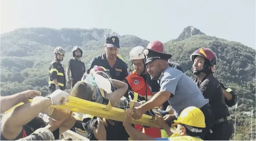
<svg viewBox="0 0 256 141"><path fill-rule="evenodd" d="M191 36L199 35L199 34L204 34L204 33L193 26L188 26L188 27L184 28L183 32L181 32L181 34L178 36L178 38L175 39L174 41L183 41Z"/></svg>

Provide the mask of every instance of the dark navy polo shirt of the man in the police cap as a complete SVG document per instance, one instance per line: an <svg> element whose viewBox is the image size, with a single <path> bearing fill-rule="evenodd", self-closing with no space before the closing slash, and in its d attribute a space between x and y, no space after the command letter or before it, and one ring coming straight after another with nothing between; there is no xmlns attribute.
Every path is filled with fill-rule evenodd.
<svg viewBox="0 0 256 141"><path fill-rule="evenodd" d="M89 66L86 70L87 74L90 73L91 69L95 65L103 66L105 69L107 69L107 71L110 72L112 79L123 81L123 80L125 80L125 77L128 76L128 72L127 72L128 66L119 57L117 57L116 64L114 64L114 66L112 68L108 64L108 61L106 58L106 53L104 53L103 55L100 55L98 57L94 57L93 59L91 59Z"/></svg>

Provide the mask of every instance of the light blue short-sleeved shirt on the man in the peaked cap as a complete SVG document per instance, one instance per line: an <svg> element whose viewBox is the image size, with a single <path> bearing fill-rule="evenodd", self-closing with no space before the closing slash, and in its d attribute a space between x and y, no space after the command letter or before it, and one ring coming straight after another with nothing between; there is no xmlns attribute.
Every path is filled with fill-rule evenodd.
<svg viewBox="0 0 256 141"><path fill-rule="evenodd" d="M171 93L168 100L178 116L187 107L201 108L208 103L197 84L176 68L167 67L159 77L160 91Z"/></svg>

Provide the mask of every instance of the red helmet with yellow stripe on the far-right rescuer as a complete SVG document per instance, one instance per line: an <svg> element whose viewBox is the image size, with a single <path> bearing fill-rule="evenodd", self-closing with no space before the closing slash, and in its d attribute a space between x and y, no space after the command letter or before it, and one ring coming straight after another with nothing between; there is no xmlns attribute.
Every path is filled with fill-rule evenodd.
<svg viewBox="0 0 256 141"><path fill-rule="evenodd" d="M215 73L215 68L214 67L215 67L215 65L217 63L217 56L216 56L216 54L212 50L210 50L208 48L199 48L198 50L194 51L192 53L192 55L190 55L191 61L194 61L194 59L197 56L201 56L204 59L209 60L210 66L211 66L211 71L213 73Z"/></svg>

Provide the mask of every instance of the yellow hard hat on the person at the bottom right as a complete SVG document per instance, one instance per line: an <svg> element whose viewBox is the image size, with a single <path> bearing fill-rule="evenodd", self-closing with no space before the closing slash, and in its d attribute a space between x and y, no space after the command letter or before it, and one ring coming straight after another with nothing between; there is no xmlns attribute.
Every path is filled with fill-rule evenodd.
<svg viewBox="0 0 256 141"><path fill-rule="evenodd" d="M194 106L187 107L181 112L178 119L174 121L174 125L177 124L190 125L200 128L206 127L203 112Z"/></svg>

